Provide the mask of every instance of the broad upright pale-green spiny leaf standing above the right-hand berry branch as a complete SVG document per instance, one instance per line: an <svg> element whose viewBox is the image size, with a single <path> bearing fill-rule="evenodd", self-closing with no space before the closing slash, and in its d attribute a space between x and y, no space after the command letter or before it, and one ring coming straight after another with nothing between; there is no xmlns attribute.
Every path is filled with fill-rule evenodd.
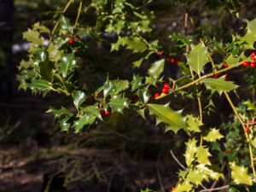
<svg viewBox="0 0 256 192"><path fill-rule="evenodd" d="M201 70L209 61L207 55L207 47L202 42L197 45L191 45L191 51L187 55L187 60L195 73L201 73Z"/></svg>

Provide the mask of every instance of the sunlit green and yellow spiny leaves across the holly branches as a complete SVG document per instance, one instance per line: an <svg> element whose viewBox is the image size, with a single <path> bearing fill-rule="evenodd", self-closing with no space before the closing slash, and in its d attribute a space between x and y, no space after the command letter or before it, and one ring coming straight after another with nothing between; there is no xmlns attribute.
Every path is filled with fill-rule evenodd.
<svg viewBox="0 0 256 192"><path fill-rule="evenodd" d="M188 6L186 2L184 1L184 6ZM137 6L126 0L92 0L86 5L81 1L76 20L70 20L66 11L72 3L73 1L69 1L63 11L55 13L56 20L52 31L48 26L36 23L32 29L23 33L23 38L32 43L32 46L28 60L20 62L18 75L20 89L29 88L33 93L44 95L55 92L73 101L73 108L51 107L48 110L48 113L58 119L61 131L89 130L90 125L103 121L108 113L135 110L145 119L153 115L156 125L166 125L166 131L173 131L175 134L184 131L189 137L183 150L186 167L178 172L175 191L195 191L204 187L205 183L221 177L228 183L255 183L255 133L254 130L247 131L247 113L237 111L230 99L230 92L236 92L239 85L227 79L226 73L234 68L241 68L243 61L249 61L250 65L254 63L253 54L249 57L247 51L252 53L250 49L253 49L256 36L256 20L247 20L244 34L234 33L230 42L225 42L225 39L216 40L207 35L191 33L190 36L186 37L187 34L184 34L183 37L172 34L170 38L177 42L178 54L182 55L182 59L174 61L182 76L171 79L164 75L165 66L170 64L168 61L172 61L169 53L160 48L157 39L149 41L146 38L153 31L150 26L153 13L144 6ZM79 23L79 19L89 12L96 16L95 24ZM133 62L134 67L141 67L143 61L149 61L150 56L157 58L148 65L147 75L134 75L131 81L107 78L104 83L92 88L88 84L81 84L79 70L86 63L80 57L90 49L86 38L104 42L102 35L106 32L108 35L113 33L116 37L116 41L111 42L111 51L129 49L132 55L137 55L139 59ZM44 45L46 39L49 39L48 45ZM215 61L216 54L223 57L221 62ZM223 67L224 63L228 67ZM159 89L163 82L169 84L164 87L166 90L162 90L160 96L152 96L152 90ZM247 165L245 162L236 164L234 160L229 160L231 179L218 166L213 165L213 152L209 148L212 143L218 143L230 133L227 132L224 136L218 128L207 127L203 119L207 117L204 108L207 111L209 105L202 106L202 101L207 100L213 105L212 96L215 93L225 96L226 104L236 113L239 122L236 129L243 132L242 147L248 149L245 153L249 161ZM172 102L161 102L169 96L183 96L184 99L195 100L198 102L199 116L184 112L183 108L174 109ZM253 111L250 125L254 125L255 102L248 101L247 106ZM217 151L222 153L221 150Z"/></svg>

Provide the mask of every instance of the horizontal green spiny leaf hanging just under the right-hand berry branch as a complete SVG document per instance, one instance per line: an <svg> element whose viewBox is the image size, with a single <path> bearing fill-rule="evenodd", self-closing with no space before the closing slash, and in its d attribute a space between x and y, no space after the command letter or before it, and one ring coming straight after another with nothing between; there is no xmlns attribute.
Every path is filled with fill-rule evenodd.
<svg viewBox="0 0 256 192"><path fill-rule="evenodd" d="M230 91L235 90L238 85L234 84L231 81L226 81L224 78L219 79L213 79L213 78L207 78L201 80L202 84L206 84L207 87L212 87L213 89L217 90L219 93L222 91Z"/></svg>

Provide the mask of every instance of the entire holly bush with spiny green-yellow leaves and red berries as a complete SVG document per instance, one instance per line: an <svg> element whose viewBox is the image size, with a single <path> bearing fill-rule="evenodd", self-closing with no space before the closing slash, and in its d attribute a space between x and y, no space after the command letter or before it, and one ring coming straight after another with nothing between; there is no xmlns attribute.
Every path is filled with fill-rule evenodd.
<svg viewBox="0 0 256 192"><path fill-rule="evenodd" d="M132 110L143 119L154 116L156 125L165 125L166 131L173 134L186 133L188 141L181 157L185 165L172 154L180 166L172 191L253 192L255 84L236 84L230 80L230 73L238 69L249 71L251 75L246 80L253 82L256 19L240 20L239 1L206 1L202 8L221 7L238 20L238 26L232 30L227 23L219 27L211 20L200 25L200 15L193 15L189 9L193 2L169 3L184 10L184 21L180 32L170 32L165 37L170 45L162 45L166 44L161 42L163 39L152 38L151 24L157 18L148 8L154 6L154 1L69 0L52 15L54 25L49 20L37 22L23 33L31 46L28 58L20 62L20 89L67 98L61 107L52 106L47 111L58 120L61 131L88 131L112 113ZM71 16L74 10L75 18ZM134 72L132 79L113 79L108 73L96 75L98 58L86 58L94 57L90 51L100 51L102 46L110 51L105 54L112 54L119 61L109 60L112 67L122 65L124 60L131 63L132 68L128 69ZM175 77L166 74L169 66L177 68ZM106 70L104 64L101 67ZM252 92L246 99L239 96L238 90L243 86ZM221 96L221 105L230 106L234 114L230 123L221 125L222 130L205 123L215 113L216 96ZM234 96L236 102L239 99L238 107ZM192 105L190 110L183 110L185 101L196 102L197 112ZM219 167L224 162L227 169ZM224 185L216 188L219 180Z"/></svg>

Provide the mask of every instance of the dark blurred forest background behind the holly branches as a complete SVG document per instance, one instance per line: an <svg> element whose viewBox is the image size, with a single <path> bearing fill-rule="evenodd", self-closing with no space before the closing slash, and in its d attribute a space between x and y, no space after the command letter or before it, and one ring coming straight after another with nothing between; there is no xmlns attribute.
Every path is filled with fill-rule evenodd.
<svg viewBox="0 0 256 192"><path fill-rule="evenodd" d="M21 59L26 59L29 46L22 39L22 32L38 20L50 22L55 9L62 8L66 2L0 2L0 191L130 192L147 187L170 191L178 170L170 150L182 159L183 152L179 149L186 139L183 133L165 133L161 125L154 125L154 119L145 121L128 110L125 115L113 113L90 132L61 132L53 116L45 111L51 103L61 105L69 101L61 96L32 96L30 91L18 90L17 65ZM172 49L168 42L170 33L183 33L185 8L181 1L148 2L148 10L154 11L155 15L152 38L160 39L160 44L168 51ZM241 22L256 17L256 2L253 0L192 2L189 15L194 17L195 25L201 26L202 34L209 37L230 38L231 32L239 30L237 26ZM240 19L230 10L239 12ZM75 17L76 9L68 15ZM111 34L105 38L113 41ZM138 71L132 68L129 51L110 53L108 43L91 40L90 44L95 44L95 49L88 50L83 59L97 64L90 69L90 74L84 73L84 81L90 80L91 75L106 76L107 73L110 78L131 79L132 72ZM231 79L244 84L242 79L246 77L242 72L236 70ZM177 73L177 67L166 70L171 77ZM252 97L247 90L239 91L242 98ZM221 98L217 97L218 100ZM188 105L194 104L188 102ZM230 121L224 117L231 110L217 106L218 113L212 116L213 119L208 119L207 124L219 127Z"/></svg>

